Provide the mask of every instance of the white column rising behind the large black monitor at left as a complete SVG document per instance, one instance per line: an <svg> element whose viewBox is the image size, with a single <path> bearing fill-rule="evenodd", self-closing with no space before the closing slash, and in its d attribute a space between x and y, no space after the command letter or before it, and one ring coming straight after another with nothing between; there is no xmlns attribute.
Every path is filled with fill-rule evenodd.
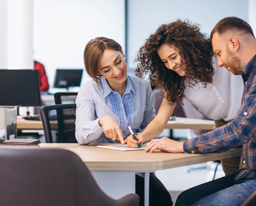
<svg viewBox="0 0 256 206"><path fill-rule="evenodd" d="M8 68L34 68L33 0L8 0Z"/></svg>

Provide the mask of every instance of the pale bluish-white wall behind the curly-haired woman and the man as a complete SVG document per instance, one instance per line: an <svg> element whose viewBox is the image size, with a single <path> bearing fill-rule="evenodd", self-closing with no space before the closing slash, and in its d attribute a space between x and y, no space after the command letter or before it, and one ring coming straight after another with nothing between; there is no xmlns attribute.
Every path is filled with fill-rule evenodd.
<svg viewBox="0 0 256 206"><path fill-rule="evenodd" d="M210 34L215 24L227 16L237 16L248 21L248 0L129 0L128 66L135 68L130 62L149 35L161 24L189 19L201 24L202 32Z"/></svg>

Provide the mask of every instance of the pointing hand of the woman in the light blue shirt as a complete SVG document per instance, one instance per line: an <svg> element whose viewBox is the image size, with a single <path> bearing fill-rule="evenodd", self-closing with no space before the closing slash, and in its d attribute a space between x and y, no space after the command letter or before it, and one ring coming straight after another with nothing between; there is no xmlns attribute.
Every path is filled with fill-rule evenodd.
<svg viewBox="0 0 256 206"><path fill-rule="evenodd" d="M119 125L111 116L102 116L99 119L99 125L103 128L103 132L106 134L108 138L112 139L113 141L119 140L122 144L125 143Z"/></svg>

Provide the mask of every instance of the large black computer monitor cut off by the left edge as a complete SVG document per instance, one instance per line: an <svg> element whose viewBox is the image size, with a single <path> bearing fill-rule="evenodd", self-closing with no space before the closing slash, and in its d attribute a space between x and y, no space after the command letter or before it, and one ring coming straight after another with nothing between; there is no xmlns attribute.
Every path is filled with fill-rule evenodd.
<svg viewBox="0 0 256 206"><path fill-rule="evenodd" d="M0 106L41 106L38 70L0 70Z"/></svg>

